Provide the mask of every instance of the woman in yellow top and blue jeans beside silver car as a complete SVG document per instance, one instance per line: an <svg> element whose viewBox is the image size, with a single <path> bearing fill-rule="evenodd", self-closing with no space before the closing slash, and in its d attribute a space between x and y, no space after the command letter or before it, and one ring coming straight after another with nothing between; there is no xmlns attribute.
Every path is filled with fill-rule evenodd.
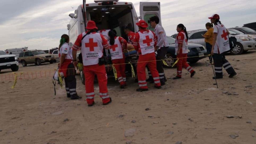
<svg viewBox="0 0 256 144"><path fill-rule="evenodd" d="M213 45L213 24L206 23L205 27L208 31L203 35L203 37L205 38L206 50L208 54L211 54L211 47ZM207 66L210 66L211 63L213 62L212 58L212 56L209 56L210 63L207 64Z"/></svg>

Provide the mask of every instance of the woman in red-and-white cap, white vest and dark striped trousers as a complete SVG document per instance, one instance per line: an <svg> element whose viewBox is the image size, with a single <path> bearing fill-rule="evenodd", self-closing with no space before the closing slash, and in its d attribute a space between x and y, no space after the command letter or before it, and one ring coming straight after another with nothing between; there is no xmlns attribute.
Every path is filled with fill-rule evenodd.
<svg viewBox="0 0 256 144"><path fill-rule="evenodd" d="M209 19L211 19L211 23L215 25L213 28L214 37L211 48L211 55L214 55L214 69L216 75L213 79L220 79L223 77L222 67L229 74L228 77L232 78L236 75L236 72L225 58L225 53L230 50L228 37L229 32L219 21L219 15L214 14L209 17Z"/></svg>

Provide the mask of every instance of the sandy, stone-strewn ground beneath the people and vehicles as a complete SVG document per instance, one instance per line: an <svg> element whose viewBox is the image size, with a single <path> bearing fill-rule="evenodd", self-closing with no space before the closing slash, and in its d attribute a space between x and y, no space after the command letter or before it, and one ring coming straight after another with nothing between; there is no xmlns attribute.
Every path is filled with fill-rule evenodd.
<svg viewBox="0 0 256 144"><path fill-rule="evenodd" d="M228 78L225 72L224 78L218 80L219 89L213 85L213 71L206 66L207 59L191 65L196 70L193 78L183 69L183 78L173 80L176 69L165 69L166 86L155 89L148 84L148 92L135 92L138 84L133 78L128 78L125 89L109 79L113 102L107 106L102 105L95 84L96 104L87 107L79 75L77 92L83 97L81 100L69 100L60 86L54 96L51 78L18 79L14 89L13 80L1 81L0 143L254 144L255 56L256 51L228 55L238 75ZM19 72L52 70L56 65L20 66ZM12 72L2 70L0 75L9 73Z"/></svg>

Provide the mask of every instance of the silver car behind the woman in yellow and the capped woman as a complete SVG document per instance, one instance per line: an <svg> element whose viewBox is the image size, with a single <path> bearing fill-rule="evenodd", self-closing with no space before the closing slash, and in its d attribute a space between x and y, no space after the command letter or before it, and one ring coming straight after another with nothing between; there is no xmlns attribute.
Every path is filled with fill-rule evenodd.
<svg viewBox="0 0 256 144"><path fill-rule="evenodd" d="M197 43L205 46L204 37L202 37L202 35L204 35L206 32L207 32L206 29L188 31L188 37L189 37L188 42ZM230 33L229 37L233 36L237 40L235 44L235 48L232 51L230 51L232 55L240 55L244 51L255 49L255 41L248 35L235 33L235 32L232 32L231 30L229 30L229 33Z"/></svg>

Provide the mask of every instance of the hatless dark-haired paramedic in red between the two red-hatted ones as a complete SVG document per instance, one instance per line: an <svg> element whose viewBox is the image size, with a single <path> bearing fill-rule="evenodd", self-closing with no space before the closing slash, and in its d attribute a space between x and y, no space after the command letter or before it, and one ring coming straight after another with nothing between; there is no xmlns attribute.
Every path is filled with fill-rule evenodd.
<svg viewBox="0 0 256 144"><path fill-rule="evenodd" d="M123 50L127 49L127 41L122 37L117 37L115 30L109 31L108 35L112 64L117 64L114 65L117 72L117 79L120 83L120 87L124 88L126 86L126 75Z"/></svg>

